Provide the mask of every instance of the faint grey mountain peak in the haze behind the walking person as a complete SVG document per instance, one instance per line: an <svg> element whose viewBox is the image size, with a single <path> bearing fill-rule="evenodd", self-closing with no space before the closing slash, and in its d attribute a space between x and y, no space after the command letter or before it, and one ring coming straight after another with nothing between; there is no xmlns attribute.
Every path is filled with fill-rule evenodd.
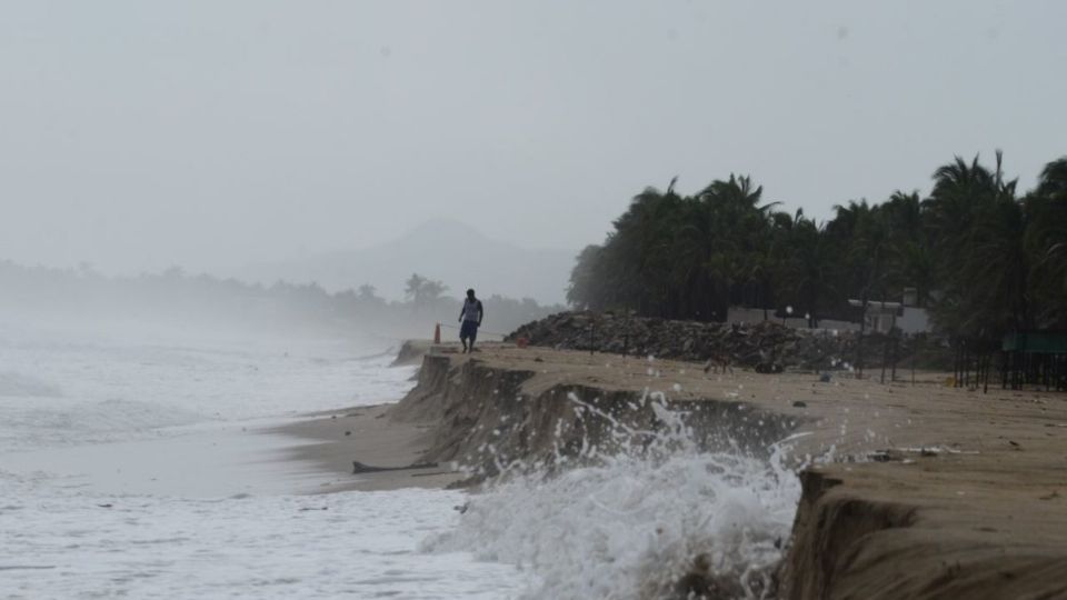
<svg viewBox="0 0 1067 600"><path fill-rule="evenodd" d="M419 273L443 281L450 296L475 288L481 297L499 293L562 303L576 254L571 250L520 248L488 238L459 221L438 219L390 242L257 263L239 277L265 284L279 279L315 281L330 291L370 283L378 288L379 296L401 299L403 282L411 273Z"/></svg>

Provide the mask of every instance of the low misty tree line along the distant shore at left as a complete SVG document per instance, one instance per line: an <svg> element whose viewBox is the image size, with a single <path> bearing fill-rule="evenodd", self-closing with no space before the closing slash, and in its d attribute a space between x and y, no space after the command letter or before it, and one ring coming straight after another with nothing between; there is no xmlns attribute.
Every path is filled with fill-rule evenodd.
<svg viewBox="0 0 1067 600"><path fill-rule="evenodd" d="M453 323L461 300L419 274L407 279L403 300L373 286L328 291L317 283L270 286L189 274L180 268L136 277L108 277L83 263L73 269L24 267L0 260L0 317L67 316L91 321L134 321L239 329L280 334L372 334L427 338L436 322ZM564 310L530 298L485 298L486 330L509 332Z"/></svg>

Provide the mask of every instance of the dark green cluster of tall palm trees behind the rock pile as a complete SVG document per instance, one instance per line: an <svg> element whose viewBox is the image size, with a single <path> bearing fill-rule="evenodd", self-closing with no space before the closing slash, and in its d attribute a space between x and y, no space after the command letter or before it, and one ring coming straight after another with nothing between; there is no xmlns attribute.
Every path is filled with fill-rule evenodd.
<svg viewBox="0 0 1067 600"><path fill-rule="evenodd" d="M647 188L604 243L577 258L567 299L592 310L722 321L730 306L769 316L856 321L848 299L901 299L906 288L944 334L999 340L1067 328L1067 157L1025 193L993 166L957 157L927 197L849 201L816 222L766 202L748 177L692 196Z"/></svg>

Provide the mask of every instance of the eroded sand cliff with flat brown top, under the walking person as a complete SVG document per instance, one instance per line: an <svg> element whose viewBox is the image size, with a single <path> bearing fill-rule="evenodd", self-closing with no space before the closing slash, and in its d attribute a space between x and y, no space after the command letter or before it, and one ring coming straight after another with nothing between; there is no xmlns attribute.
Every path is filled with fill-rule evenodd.
<svg viewBox="0 0 1067 600"><path fill-rule="evenodd" d="M662 394L709 448L790 433L804 494L785 598L1067 597L1067 398L839 376L705 374L685 362L438 348L390 420L433 423L425 458L492 474L610 451L609 420L652 429ZM641 402L641 400L645 402ZM591 416L591 412L596 416ZM610 416L610 419L608 418ZM586 450L584 450L586 449Z"/></svg>

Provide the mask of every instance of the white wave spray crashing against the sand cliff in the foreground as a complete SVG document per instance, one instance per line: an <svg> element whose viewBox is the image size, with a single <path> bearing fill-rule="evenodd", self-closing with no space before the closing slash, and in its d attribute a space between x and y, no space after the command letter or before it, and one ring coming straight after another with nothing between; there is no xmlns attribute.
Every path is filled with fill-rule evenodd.
<svg viewBox="0 0 1067 600"><path fill-rule="evenodd" d="M651 400L658 431L609 420L611 453L582 444L581 466L512 469L473 496L429 551L469 551L528 570L530 598L767 598L800 483L782 443L769 457L702 451L686 414ZM562 459L562 457L558 457ZM574 461L572 461L574 462Z"/></svg>

